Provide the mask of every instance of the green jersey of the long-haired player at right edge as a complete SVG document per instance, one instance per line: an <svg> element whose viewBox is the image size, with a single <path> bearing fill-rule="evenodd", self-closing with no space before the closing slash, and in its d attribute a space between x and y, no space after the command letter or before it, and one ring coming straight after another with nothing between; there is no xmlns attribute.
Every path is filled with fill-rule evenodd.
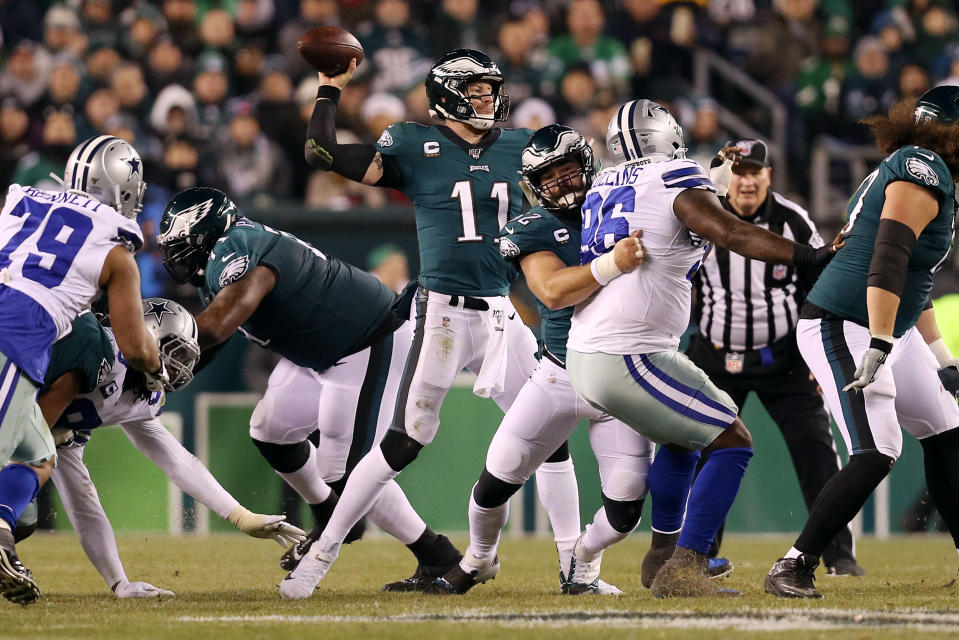
<svg viewBox="0 0 959 640"><path fill-rule="evenodd" d="M912 145L901 147L866 176L853 194L843 231L846 246L836 253L806 298L817 307L863 326L869 326L866 281L886 187L896 181L927 189L939 201L939 213L922 230L909 257L893 335L899 337L919 319L926 306L935 273L952 247L955 226L955 184L949 167L938 155Z"/></svg>

